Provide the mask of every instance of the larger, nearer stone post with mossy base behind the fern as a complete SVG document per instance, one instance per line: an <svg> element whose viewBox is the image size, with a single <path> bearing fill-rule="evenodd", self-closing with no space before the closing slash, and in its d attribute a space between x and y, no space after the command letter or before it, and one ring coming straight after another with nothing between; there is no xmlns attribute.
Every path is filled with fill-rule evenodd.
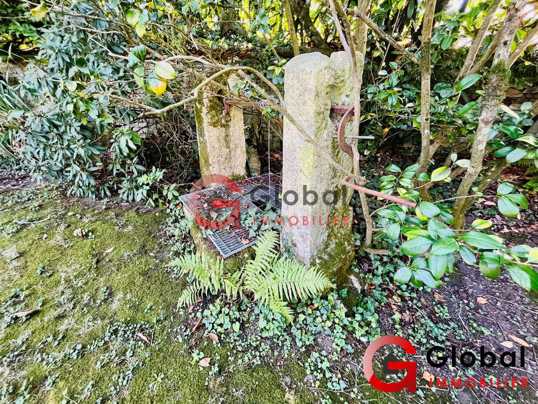
<svg viewBox="0 0 538 404"><path fill-rule="evenodd" d="M351 168L351 157L333 137L342 115L330 116L331 105L353 105L351 62L345 52L333 53L330 58L314 52L291 59L285 68L284 94L288 112L316 143L339 164ZM346 133L352 133L352 121ZM287 119L283 155L283 244L293 246L295 259L342 281L355 247L349 205L352 191L341 184L343 173L318 156ZM294 201L295 194L298 198Z"/></svg>

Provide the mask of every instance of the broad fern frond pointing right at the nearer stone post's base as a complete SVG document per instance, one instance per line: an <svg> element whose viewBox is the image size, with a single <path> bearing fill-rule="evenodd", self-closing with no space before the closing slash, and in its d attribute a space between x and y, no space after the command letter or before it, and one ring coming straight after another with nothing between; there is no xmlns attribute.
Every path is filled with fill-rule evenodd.
<svg viewBox="0 0 538 404"><path fill-rule="evenodd" d="M253 278L251 283L254 297L262 303L313 297L331 285L321 271L306 269L303 264L286 257L275 262L271 272Z"/></svg>

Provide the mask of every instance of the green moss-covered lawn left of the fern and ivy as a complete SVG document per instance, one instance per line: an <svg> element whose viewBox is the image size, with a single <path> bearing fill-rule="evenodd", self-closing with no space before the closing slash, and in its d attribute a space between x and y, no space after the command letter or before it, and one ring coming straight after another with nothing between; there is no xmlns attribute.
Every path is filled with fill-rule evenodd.
<svg viewBox="0 0 538 404"><path fill-rule="evenodd" d="M269 365L208 377L174 342L183 284L167 273L162 211L103 208L50 185L3 191L0 402L315 401Z"/></svg>

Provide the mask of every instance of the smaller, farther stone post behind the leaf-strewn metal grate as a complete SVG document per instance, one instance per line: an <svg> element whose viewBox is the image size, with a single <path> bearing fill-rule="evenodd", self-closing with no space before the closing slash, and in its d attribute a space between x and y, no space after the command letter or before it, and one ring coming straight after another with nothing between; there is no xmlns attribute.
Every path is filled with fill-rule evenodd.
<svg viewBox="0 0 538 404"><path fill-rule="evenodd" d="M222 84L233 85L235 78ZM243 110L230 107L230 114L224 114L221 97L210 93L211 88L201 91L194 102L196 134L200 156L202 177L223 175L233 180L246 177L246 145L243 124Z"/></svg>

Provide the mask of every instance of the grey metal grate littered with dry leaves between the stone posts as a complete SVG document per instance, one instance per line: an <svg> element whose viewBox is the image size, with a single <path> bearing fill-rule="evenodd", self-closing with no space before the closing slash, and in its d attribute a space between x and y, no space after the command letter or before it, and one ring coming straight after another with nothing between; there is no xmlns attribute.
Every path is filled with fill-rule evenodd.
<svg viewBox="0 0 538 404"><path fill-rule="evenodd" d="M267 203L278 209L281 208L282 201L279 199L279 194L282 192L282 179L279 176L264 174L242 179L236 184L243 191L242 193L232 193L226 185L217 185L213 188L182 195L179 199L193 218L198 210L204 218L209 220L222 220L231 211L231 208L214 208L213 200L239 200L242 214L253 209L256 209L256 214L259 214ZM224 258L250 247L258 241L257 237L249 238L249 231L243 225L238 230L214 230L213 233L209 234L209 239ZM243 240L249 242L244 243Z"/></svg>

